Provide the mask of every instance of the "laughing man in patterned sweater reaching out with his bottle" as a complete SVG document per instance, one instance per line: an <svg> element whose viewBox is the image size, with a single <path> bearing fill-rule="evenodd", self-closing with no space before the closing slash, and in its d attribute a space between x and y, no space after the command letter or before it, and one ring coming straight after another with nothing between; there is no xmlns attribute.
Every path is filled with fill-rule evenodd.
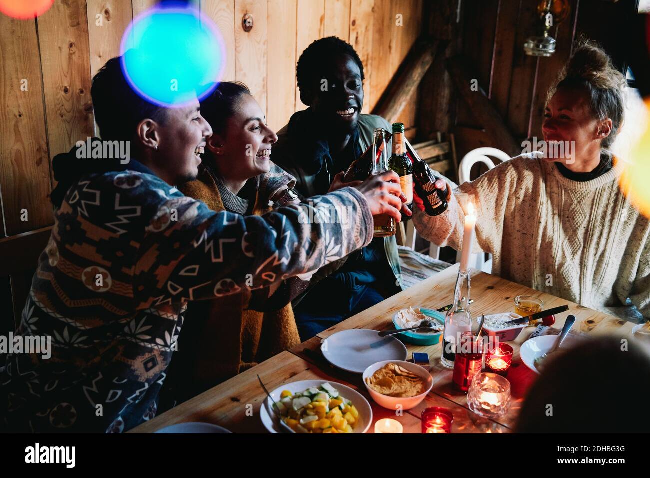
<svg viewBox="0 0 650 478"><path fill-rule="evenodd" d="M0 432L122 432L153 418L187 301L250 298L368 245L372 215L399 217L395 174L263 217L215 213L172 186L196 178L212 134L198 101L146 103L120 59L96 75L92 98L102 139L130 141L138 161L83 148L55 158L55 225L16 332L51 337L51 358L8 356ZM348 215L309 224L325 210Z"/></svg>

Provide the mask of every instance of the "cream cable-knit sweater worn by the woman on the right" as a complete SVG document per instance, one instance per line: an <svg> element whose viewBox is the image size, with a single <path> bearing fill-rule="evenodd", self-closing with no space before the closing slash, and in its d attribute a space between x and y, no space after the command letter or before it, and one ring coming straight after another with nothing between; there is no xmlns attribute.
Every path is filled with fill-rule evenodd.
<svg viewBox="0 0 650 478"><path fill-rule="evenodd" d="M413 223L460 250L472 200L474 252L493 254L493 274L622 318L629 298L650 319L649 220L619 189L620 174L617 165L581 183L522 155L455 189L442 215L415 211Z"/></svg>

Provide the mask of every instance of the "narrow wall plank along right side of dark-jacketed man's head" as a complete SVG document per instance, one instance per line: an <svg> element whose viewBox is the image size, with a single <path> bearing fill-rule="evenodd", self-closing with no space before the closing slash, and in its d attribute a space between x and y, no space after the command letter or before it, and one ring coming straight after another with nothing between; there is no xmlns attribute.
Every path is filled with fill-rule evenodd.
<svg viewBox="0 0 650 478"><path fill-rule="evenodd" d="M350 6L350 45L359 55L363 63L365 81L363 82L363 108L361 113L370 113L372 90L370 75L372 75L372 34L374 31L374 0L356 0Z"/></svg>

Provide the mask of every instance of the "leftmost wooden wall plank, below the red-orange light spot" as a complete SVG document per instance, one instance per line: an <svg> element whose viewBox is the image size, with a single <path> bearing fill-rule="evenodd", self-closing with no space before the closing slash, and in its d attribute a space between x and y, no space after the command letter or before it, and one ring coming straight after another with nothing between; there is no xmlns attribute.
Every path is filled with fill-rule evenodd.
<svg viewBox="0 0 650 478"><path fill-rule="evenodd" d="M0 15L0 32L0 189L14 235L53 223L50 165L36 23Z"/></svg>

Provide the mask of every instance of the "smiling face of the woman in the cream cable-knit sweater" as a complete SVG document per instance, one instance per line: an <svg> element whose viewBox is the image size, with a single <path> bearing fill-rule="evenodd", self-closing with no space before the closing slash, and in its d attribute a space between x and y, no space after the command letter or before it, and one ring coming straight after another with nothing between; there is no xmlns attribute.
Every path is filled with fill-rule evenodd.
<svg viewBox="0 0 650 478"><path fill-rule="evenodd" d="M565 164L600 155L599 120L593 117L588 93L573 88L558 89L544 114L542 132L547 145L564 142L564 157L549 157L549 161ZM570 155L567 148L571 150ZM561 150L561 148L558 148Z"/></svg>

